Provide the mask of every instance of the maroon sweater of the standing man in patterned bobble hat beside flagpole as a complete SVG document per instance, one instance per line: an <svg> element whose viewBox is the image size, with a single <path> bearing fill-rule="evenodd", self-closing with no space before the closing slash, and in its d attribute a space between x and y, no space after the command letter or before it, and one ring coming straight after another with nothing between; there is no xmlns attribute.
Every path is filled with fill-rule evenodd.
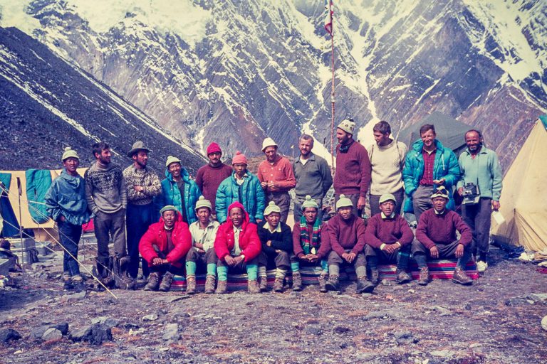
<svg viewBox="0 0 547 364"><path fill-rule="evenodd" d="M348 153L340 152L340 144L336 146L336 173L334 175L334 191L346 195L359 193L367 196L370 185L370 159L367 149L355 141Z"/></svg>

